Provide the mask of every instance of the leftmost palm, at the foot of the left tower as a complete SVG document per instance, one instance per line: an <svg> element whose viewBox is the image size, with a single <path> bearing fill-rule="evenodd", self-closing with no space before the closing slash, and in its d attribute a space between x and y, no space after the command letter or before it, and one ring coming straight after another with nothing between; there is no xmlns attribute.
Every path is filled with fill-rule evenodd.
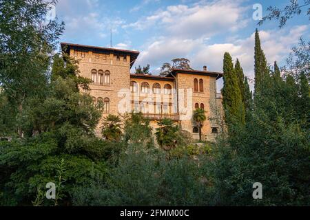
<svg viewBox="0 0 310 220"><path fill-rule="evenodd" d="M102 128L102 135L106 140L118 142L121 139L121 118L118 115L107 115Z"/></svg>

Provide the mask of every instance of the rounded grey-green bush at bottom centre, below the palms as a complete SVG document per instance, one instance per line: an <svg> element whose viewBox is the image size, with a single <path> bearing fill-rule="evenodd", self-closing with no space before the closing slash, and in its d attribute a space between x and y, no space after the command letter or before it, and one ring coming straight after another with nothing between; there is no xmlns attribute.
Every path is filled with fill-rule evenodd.
<svg viewBox="0 0 310 220"><path fill-rule="evenodd" d="M206 205L208 190L196 162L165 159L162 151L131 146L105 184L74 192L76 206Z"/></svg>

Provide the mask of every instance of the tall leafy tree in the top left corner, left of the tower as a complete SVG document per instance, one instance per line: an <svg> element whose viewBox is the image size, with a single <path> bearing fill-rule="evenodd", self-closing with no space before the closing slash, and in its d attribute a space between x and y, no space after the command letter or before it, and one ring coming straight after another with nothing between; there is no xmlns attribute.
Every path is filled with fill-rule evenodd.
<svg viewBox="0 0 310 220"><path fill-rule="evenodd" d="M57 19L43 24L50 4L56 1L0 2L0 83L19 113L28 97L44 94L50 54L63 32Z"/></svg>

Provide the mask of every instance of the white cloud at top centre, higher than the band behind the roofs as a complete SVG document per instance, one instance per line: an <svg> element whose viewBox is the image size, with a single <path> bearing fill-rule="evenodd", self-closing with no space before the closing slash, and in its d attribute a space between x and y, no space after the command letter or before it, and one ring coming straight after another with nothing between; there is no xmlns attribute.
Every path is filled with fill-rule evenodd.
<svg viewBox="0 0 310 220"><path fill-rule="evenodd" d="M145 30L157 27L171 36L200 38L213 36L221 31L236 31L247 25L239 1L216 1L199 5L170 5L149 17L123 25L123 28Z"/></svg>

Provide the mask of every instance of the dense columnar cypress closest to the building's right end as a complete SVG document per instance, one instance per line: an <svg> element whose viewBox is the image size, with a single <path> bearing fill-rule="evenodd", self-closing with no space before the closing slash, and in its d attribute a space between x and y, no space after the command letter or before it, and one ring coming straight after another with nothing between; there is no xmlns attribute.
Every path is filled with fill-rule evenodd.
<svg viewBox="0 0 310 220"><path fill-rule="evenodd" d="M222 89L223 107L225 110L225 122L228 124L235 124L241 122L245 123L245 107L242 104L242 96L238 85L238 77L234 70L229 53L224 54L223 63L223 81L224 87Z"/></svg>

